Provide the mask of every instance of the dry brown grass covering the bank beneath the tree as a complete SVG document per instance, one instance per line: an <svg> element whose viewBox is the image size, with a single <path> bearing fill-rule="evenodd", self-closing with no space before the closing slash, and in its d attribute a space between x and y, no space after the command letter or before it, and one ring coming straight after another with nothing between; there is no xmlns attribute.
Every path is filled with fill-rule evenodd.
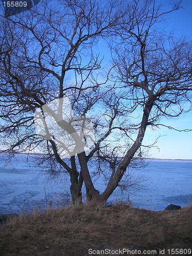
<svg viewBox="0 0 192 256"><path fill-rule="evenodd" d="M1 255L81 256L89 255L89 248L190 248L191 214L192 207L154 212L128 205L35 211L0 227L0 251Z"/></svg>

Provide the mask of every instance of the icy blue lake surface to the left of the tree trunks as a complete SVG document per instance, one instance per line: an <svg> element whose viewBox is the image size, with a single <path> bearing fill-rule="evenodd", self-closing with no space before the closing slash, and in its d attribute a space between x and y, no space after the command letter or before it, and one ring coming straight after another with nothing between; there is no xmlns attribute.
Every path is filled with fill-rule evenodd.
<svg viewBox="0 0 192 256"><path fill-rule="evenodd" d="M25 161L25 162L24 162ZM66 198L65 175L50 179L50 175L37 168L32 157L16 156L6 163L0 156L0 214L31 212L34 206L45 209L59 206Z"/></svg>

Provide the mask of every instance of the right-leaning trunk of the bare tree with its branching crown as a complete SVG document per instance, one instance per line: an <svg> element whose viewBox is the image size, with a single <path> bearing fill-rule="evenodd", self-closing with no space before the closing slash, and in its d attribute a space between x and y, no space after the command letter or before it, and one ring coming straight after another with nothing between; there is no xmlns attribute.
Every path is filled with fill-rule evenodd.
<svg viewBox="0 0 192 256"><path fill-rule="evenodd" d="M175 11L180 8L174 4ZM167 12L160 12L155 1L133 1L132 22L121 24L118 44L111 43L114 63L112 80L127 93L123 97L127 113L142 110L138 123L130 130L137 131L129 150L113 172L101 198L108 198L122 179L136 152L142 146L147 127L159 127L161 117L178 117L191 110L191 42L174 38L158 30L157 22ZM191 130L184 130L191 131ZM126 136L132 139L127 129Z"/></svg>

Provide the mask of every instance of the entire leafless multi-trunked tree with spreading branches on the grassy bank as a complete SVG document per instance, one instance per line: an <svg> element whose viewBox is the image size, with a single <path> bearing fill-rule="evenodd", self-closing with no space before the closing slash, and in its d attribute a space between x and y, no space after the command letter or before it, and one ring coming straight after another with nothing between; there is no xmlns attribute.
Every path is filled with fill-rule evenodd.
<svg viewBox="0 0 192 256"><path fill-rule="evenodd" d="M172 11L178 8L175 5ZM69 173L74 203L82 202L83 182L88 200L105 202L127 168L142 158L146 127L159 126L161 116L179 116L184 102L191 102L190 44L156 31L164 14L153 1L103 4L84 0L62 1L56 7L42 2L41 8L2 17L2 152L45 149L45 159L59 163ZM113 60L106 74L101 69L102 56L95 50L103 39L111 47ZM59 151L62 141L47 126L46 139L38 136L34 124L38 109L42 111L46 105L52 113L50 102L65 97L80 119L70 114L69 120L61 115L58 121L58 115L51 114L58 130L65 130L80 144L83 141L84 146L87 138L77 133L74 123L81 120L84 127L82 123L89 120L84 117L90 114L95 132L90 150L82 146L68 160ZM142 116L133 123L140 107ZM102 175L106 168L101 161L111 170L102 194L91 178L91 159L97 161Z"/></svg>

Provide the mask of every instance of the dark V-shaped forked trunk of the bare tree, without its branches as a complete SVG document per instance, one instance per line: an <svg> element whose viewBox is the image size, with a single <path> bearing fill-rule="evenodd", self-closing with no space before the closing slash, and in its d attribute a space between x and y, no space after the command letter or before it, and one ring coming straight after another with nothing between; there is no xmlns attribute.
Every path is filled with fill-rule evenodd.
<svg viewBox="0 0 192 256"><path fill-rule="evenodd" d="M86 185L86 194L87 194L87 202L100 202L104 203L108 198L111 196L115 188L118 186L121 178L123 177L127 166L130 164L132 158L134 157L135 153L137 152L138 148L141 146L142 140L144 138L144 134L146 131L148 118L150 116L150 112L153 108L155 101L154 96L150 96L148 100L146 101L145 108L143 110L143 117L140 125L140 129L138 132L138 136L136 138L136 141L130 148L130 150L126 153L125 157L119 164L118 168L116 169L116 172L114 173L114 176L110 179L110 182L108 183L108 186L103 191L101 195L99 195L99 191L95 189L93 182L91 180L91 176L89 173L88 165L87 165L87 158L86 154L84 152L78 154L78 160L80 164L80 175L79 181L78 176L71 176L71 195L73 203L82 203L82 197L81 197L81 187L82 182L84 181L84 184Z"/></svg>

